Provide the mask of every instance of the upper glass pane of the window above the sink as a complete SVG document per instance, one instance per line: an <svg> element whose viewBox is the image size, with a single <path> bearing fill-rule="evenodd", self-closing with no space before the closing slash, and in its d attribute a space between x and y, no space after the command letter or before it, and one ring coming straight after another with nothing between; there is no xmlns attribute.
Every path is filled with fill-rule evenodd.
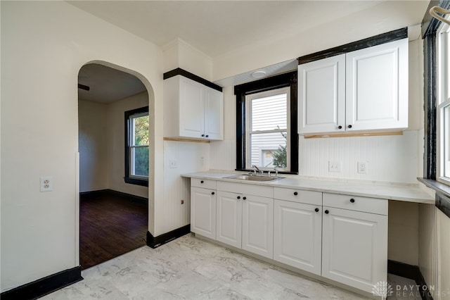
<svg viewBox="0 0 450 300"><path fill-rule="evenodd" d="M257 130L286 129L288 126L287 94L252 99L253 132Z"/></svg>

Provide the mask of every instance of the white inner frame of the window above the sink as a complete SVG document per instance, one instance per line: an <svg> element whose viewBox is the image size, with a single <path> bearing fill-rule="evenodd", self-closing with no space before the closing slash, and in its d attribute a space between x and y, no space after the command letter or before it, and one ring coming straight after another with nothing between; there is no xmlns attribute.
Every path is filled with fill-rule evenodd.
<svg viewBox="0 0 450 300"><path fill-rule="evenodd" d="M274 96L277 94L286 94L286 129L280 129L280 130L258 130L255 132L252 132L252 104L251 101L253 99L260 99L268 96ZM252 165L250 163L252 151L250 149L250 135L255 133L273 133L273 132L286 132L287 138L286 138L286 150L287 158L286 158L286 168L278 168L278 170L281 171L290 171L290 87L281 87L278 89L270 89L269 91L265 92L258 92L255 94L248 94L245 96L245 115L246 115L246 122L245 122L245 168L252 169ZM258 167L259 168L259 167ZM259 168L260 170L273 170L274 168Z"/></svg>

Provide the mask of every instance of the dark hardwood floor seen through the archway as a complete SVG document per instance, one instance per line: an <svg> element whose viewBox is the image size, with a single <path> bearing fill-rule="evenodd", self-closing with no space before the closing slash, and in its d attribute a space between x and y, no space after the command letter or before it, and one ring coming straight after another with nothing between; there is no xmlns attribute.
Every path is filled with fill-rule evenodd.
<svg viewBox="0 0 450 300"><path fill-rule="evenodd" d="M82 270L146 245L148 201L110 190L80 194Z"/></svg>

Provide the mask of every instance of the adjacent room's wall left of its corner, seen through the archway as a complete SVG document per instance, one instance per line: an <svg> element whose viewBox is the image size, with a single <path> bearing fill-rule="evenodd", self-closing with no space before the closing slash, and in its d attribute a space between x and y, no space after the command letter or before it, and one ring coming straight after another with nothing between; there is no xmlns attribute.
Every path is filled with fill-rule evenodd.
<svg viewBox="0 0 450 300"><path fill-rule="evenodd" d="M79 192L109 188L106 104L78 100Z"/></svg>

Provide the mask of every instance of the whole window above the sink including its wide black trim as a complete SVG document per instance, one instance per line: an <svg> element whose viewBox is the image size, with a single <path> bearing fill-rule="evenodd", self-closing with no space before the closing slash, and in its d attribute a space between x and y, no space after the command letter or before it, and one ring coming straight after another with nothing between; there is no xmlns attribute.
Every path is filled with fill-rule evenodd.
<svg viewBox="0 0 450 300"><path fill-rule="evenodd" d="M236 170L298 174L297 72L235 87Z"/></svg>

